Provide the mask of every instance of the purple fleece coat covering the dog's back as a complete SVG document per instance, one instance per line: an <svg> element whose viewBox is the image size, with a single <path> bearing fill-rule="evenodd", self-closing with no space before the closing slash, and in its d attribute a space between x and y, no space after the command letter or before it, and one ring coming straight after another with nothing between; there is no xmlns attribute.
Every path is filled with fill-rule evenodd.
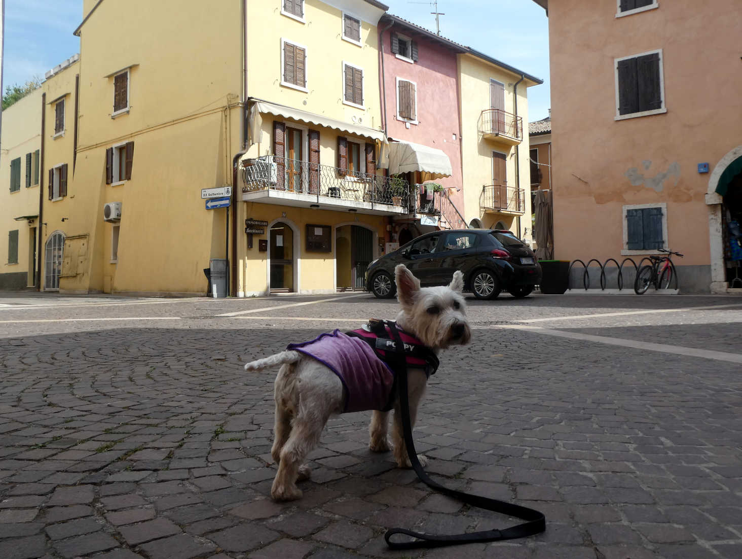
<svg viewBox="0 0 742 559"><path fill-rule="evenodd" d="M345 392L343 413L387 408L394 373L362 339L335 330L286 349L313 357L338 375Z"/></svg>

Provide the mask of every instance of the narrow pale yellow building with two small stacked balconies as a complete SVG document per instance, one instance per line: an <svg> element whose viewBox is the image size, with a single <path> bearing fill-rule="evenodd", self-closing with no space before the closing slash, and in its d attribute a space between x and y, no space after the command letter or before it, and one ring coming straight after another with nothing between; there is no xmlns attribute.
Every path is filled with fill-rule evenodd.
<svg viewBox="0 0 742 559"><path fill-rule="evenodd" d="M464 217L470 226L510 229L527 243L533 232L523 122L527 88L540 83L476 50L459 55Z"/></svg>

